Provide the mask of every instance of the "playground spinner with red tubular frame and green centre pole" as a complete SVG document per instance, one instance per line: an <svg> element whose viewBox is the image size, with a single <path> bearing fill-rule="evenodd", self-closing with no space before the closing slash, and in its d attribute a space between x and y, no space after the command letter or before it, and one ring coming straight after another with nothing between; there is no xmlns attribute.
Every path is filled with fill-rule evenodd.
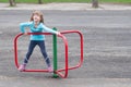
<svg viewBox="0 0 131 87"><path fill-rule="evenodd" d="M56 28L53 28L56 29ZM79 34L80 36L80 51L81 51L81 57L80 57L80 62L75 65L75 66L70 66L69 67L69 62L68 62L68 59L69 59L69 55L68 55L68 40L66 38L66 36L63 36L64 34ZM61 32L62 36L62 40L64 42L64 52L66 52L66 55L64 55L64 69L60 69L58 70L58 66L57 66L57 36L56 35L52 35L50 33L27 33L27 35L52 35L53 37L53 77L62 77L62 78L66 78L68 76L68 71L69 70L74 70L74 69L78 69L82 65L83 63L83 35L79 32L79 30L63 30ZM19 64L19 58L17 58L17 39L19 37L23 36L23 34L19 34L15 36L14 38L14 61L15 61L15 66L19 69L20 64ZM47 72L48 73L48 70L25 70L24 72ZM64 72L64 74L62 73Z"/></svg>

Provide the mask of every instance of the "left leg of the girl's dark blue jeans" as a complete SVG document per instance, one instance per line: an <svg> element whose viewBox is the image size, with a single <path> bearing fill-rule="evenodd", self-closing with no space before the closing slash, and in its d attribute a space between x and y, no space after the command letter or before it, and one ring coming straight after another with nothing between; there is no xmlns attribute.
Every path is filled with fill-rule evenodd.
<svg viewBox="0 0 131 87"><path fill-rule="evenodd" d="M33 50L34 50L36 45L37 45L36 41L31 40L29 46L28 46L28 51L26 53L26 58L24 59L24 64L26 64L28 62L29 57L33 53Z"/></svg>

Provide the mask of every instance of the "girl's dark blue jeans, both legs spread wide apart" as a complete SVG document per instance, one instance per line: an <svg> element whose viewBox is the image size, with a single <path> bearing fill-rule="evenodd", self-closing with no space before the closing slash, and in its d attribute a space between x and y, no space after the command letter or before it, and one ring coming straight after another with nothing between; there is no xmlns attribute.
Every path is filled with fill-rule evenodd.
<svg viewBox="0 0 131 87"><path fill-rule="evenodd" d="M28 62L29 57L33 53L33 50L36 47L36 45L39 46L40 51L41 51L41 53L43 53L43 55L45 58L45 61L46 61L47 65L50 66L50 60L49 60L49 58L47 55L45 41L44 40L31 40L29 47L28 47L28 51L26 53L26 58L24 59L24 64L26 64Z"/></svg>

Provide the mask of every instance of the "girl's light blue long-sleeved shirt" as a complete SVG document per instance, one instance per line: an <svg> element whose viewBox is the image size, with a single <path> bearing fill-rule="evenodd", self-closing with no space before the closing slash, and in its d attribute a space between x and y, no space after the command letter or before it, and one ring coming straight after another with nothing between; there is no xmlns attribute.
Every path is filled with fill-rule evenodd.
<svg viewBox="0 0 131 87"><path fill-rule="evenodd" d="M31 33L58 33L51 28L46 27L43 23L39 23L37 27L35 27L34 22L26 22L20 24L20 29L22 33L25 33L26 27L31 29ZM45 35L31 35L31 40L45 40Z"/></svg>

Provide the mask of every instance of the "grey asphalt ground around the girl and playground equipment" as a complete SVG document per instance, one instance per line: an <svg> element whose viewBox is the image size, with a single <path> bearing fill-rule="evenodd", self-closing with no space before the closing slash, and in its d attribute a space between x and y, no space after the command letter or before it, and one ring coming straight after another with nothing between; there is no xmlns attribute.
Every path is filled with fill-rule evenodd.
<svg viewBox="0 0 131 87"><path fill-rule="evenodd" d="M13 39L20 33L19 24L29 20L32 10L0 11L0 87L130 87L131 84L131 11L53 11L43 10L45 24L62 30L80 30L84 36L84 63L69 72L68 78L52 78L52 73L21 73L14 64ZM79 60L79 36L66 35L69 40L69 63ZM52 61L51 36L46 37ZM22 62L28 36L19 39L19 61ZM59 67L64 66L64 52L58 39ZM46 69L36 47L28 69Z"/></svg>

